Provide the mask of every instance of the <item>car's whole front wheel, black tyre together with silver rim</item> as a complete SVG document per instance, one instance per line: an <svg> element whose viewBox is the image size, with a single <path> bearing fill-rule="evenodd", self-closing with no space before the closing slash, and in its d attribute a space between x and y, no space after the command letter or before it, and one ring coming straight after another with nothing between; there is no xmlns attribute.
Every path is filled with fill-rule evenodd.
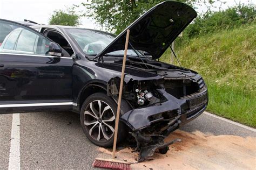
<svg viewBox="0 0 256 170"><path fill-rule="evenodd" d="M99 112L101 113L100 115ZM116 102L104 93L95 93L86 98L80 110L80 123L86 137L93 144L102 147L113 146L116 112ZM126 126L119 122L117 143L124 139L125 128Z"/></svg>

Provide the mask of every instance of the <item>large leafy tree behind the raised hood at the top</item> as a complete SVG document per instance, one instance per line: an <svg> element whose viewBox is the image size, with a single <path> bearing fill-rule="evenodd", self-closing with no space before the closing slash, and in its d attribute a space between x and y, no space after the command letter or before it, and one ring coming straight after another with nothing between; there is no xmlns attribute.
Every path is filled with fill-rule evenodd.
<svg viewBox="0 0 256 170"><path fill-rule="evenodd" d="M87 8L83 16L93 18L99 25L116 34L122 32L125 27L154 5L164 0L103 0L82 3ZM188 5L194 5L202 0L177 0ZM216 0L220 1L220 0ZM203 3L214 3L214 0L204 0Z"/></svg>

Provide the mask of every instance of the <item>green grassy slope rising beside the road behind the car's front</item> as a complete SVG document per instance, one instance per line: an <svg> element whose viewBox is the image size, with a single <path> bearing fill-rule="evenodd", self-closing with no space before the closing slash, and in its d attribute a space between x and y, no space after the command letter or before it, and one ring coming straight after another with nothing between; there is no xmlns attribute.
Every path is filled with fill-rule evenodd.
<svg viewBox="0 0 256 170"><path fill-rule="evenodd" d="M176 48L181 65L204 77L209 112L256 127L255 23L194 38ZM170 62L170 56L166 51L161 61Z"/></svg>

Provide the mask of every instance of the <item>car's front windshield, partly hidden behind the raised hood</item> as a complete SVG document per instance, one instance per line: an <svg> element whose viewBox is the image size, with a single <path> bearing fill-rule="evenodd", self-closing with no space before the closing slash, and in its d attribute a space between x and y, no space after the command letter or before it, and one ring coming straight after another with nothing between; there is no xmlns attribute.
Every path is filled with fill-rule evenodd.
<svg viewBox="0 0 256 170"><path fill-rule="evenodd" d="M87 29L65 29L73 39L76 40L80 48L83 49L84 53L87 55L97 55L99 54L110 42L114 39L114 35L97 30L87 30ZM105 55L113 56L123 56L124 50L114 51L107 53ZM127 55L137 54L129 49Z"/></svg>

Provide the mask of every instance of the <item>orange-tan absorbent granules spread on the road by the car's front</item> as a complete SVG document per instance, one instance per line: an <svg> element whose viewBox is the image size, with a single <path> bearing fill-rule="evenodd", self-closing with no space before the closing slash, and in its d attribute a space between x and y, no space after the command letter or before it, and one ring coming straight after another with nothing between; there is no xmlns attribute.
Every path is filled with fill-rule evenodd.
<svg viewBox="0 0 256 170"><path fill-rule="evenodd" d="M131 148L117 152L118 160L132 163L132 169L255 169L256 138L212 136L199 131L176 130L165 140L180 138L166 154L154 153L152 160L137 163L138 153ZM99 157L109 158L111 150L99 148Z"/></svg>

